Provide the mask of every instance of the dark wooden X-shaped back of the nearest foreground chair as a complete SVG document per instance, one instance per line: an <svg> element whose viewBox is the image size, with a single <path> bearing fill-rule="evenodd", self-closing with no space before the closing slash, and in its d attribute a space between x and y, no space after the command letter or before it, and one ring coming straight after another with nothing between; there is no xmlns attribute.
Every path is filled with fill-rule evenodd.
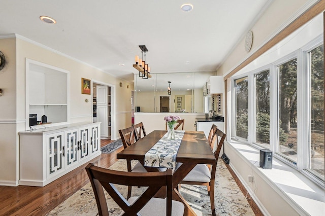
<svg viewBox="0 0 325 216"><path fill-rule="evenodd" d="M109 215L103 188L105 188L112 199L122 208L124 211L122 215L139 215L138 212L163 186L167 188L166 214L172 214L173 177L171 169L165 172L123 172L105 169L90 163L87 165L86 171L91 182L100 215ZM148 188L133 204L129 204L113 184Z"/></svg>

